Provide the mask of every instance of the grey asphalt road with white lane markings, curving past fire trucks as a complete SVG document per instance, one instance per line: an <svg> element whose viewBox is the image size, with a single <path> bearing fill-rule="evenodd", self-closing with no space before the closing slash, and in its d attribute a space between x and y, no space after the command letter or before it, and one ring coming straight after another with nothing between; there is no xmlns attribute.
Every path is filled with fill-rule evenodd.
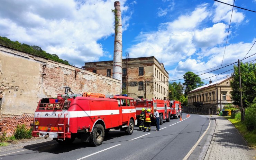
<svg viewBox="0 0 256 160"><path fill-rule="evenodd" d="M182 119L164 121L163 125L160 125L160 131L155 131L155 126L151 127L151 132L139 131L136 126L132 135L110 130L102 145L98 147L91 147L79 139L70 145L49 141L46 144L2 152L0 160L203 159L212 139L215 121L210 120L207 115L194 114L190 117L183 114Z"/></svg>

